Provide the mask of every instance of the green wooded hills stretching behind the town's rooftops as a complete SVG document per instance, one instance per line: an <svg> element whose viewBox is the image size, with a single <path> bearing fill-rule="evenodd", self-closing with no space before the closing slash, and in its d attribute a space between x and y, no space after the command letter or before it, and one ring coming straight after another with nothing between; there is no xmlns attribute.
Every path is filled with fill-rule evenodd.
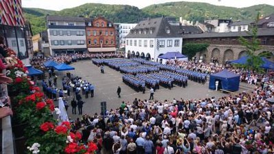
<svg viewBox="0 0 274 154"><path fill-rule="evenodd" d="M232 20L253 19L256 12L272 14L274 7L271 5L253 5L249 8L232 8L196 2L169 2L149 5L139 9L130 5L108 5L101 3L86 3L75 8L61 11L43 10L38 8L24 8L25 18L32 24L34 34L46 29L45 16L105 16L114 23L138 23L142 18L155 18L159 16L174 16L190 21L204 21L204 19L232 18Z"/></svg>

